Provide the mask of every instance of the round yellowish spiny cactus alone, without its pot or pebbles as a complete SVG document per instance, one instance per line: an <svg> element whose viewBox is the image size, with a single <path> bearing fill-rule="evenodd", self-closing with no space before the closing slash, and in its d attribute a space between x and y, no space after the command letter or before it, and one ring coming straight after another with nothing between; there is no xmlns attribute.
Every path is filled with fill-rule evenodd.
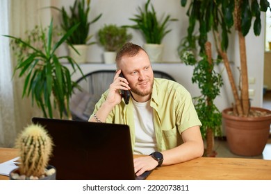
<svg viewBox="0 0 271 194"><path fill-rule="evenodd" d="M25 127L17 137L16 147L20 152L20 174L26 177L44 175L53 150L53 141L44 127L37 124Z"/></svg>

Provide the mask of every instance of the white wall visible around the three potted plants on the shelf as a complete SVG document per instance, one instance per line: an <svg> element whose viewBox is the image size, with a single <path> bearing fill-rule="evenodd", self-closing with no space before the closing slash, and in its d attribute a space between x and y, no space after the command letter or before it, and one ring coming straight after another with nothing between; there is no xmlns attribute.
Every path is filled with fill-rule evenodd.
<svg viewBox="0 0 271 194"><path fill-rule="evenodd" d="M66 10L68 10L73 0L52 0L52 2L59 8L64 5ZM97 17L99 13L103 15L95 24L90 26L90 35L97 35L97 31L104 24L117 24L118 26L134 24L129 18L137 14L138 6L142 7L145 2L145 0L92 0L90 19ZM186 35L186 19L188 18L185 16L186 9L181 7L179 0L153 0L152 2L158 18L161 18L163 13L165 13L165 15L170 14L172 17L179 19L179 21L170 22L168 26L168 29L172 29L172 31L163 39L163 44L165 44L163 60L165 62L180 62L177 47L181 37ZM54 11L53 14L57 16L58 12ZM185 23L186 25L183 25ZM128 31L133 34L133 43L140 46L144 44L144 39L138 31L133 29L128 29ZM97 44L90 46L88 62L102 62L102 53L103 48L101 46Z"/></svg>

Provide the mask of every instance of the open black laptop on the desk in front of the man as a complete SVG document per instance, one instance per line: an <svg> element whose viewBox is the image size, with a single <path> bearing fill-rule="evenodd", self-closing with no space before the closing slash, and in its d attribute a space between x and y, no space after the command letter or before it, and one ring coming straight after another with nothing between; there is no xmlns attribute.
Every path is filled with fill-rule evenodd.
<svg viewBox="0 0 271 194"><path fill-rule="evenodd" d="M56 167L56 179L130 180L136 176L128 125L92 123L52 118L32 118L54 141L49 164Z"/></svg>

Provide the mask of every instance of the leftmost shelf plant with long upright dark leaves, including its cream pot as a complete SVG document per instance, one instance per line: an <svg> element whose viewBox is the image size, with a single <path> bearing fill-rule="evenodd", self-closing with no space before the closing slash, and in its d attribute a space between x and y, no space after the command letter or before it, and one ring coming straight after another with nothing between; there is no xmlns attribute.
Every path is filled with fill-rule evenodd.
<svg viewBox="0 0 271 194"><path fill-rule="evenodd" d="M90 0L75 0L73 6L69 6L70 14L64 7L61 9L54 8L61 13L62 23L61 27L67 32L72 26L79 24L78 28L74 30L72 35L67 38L69 55L77 63L84 63L87 60L88 46L96 42L89 42L93 35L89 35L90 25L95 23L102 14L99 14L92 21L88 21L90 14Z"/></svg>

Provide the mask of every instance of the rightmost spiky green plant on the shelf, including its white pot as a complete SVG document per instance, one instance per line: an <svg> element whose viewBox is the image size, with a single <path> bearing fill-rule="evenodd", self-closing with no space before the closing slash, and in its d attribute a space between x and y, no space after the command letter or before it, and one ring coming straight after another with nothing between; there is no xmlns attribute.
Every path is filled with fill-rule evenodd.
<svg viewBox="0 0 271 194"><path fill-rule="evenodd" d="M151 8L149 8L149 5ZM126 25L124 27L140 30L146 43L143 47L149 54L151 62L162 62L162 40L165 35L171 31L167 30L168 22L176 21L177 19L172 19L170 15L158 19L156 17L156 10L154 10L154 6L150 4L150 0L145 3L144 9L138 7L138 14L134 16L135 17L130 18L130 20L136 24L131 26Z"/></svg>

